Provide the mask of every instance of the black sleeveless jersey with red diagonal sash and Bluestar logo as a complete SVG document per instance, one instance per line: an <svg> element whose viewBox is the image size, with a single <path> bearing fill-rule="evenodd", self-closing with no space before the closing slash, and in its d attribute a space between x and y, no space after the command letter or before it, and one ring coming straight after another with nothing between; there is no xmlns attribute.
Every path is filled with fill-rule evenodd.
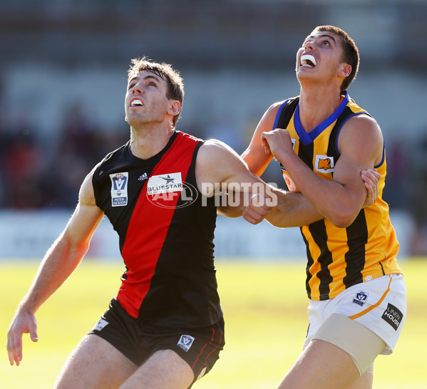
<svg viewBox="0 0 427 389"><path fill-rule="evenodd" d="M96 204L118 232L126 270L116 299L159 326L202 327L222 318L214 266L217 215L197 189L202 140L175 131L148 160L130 142L93 172Z"/></svg>

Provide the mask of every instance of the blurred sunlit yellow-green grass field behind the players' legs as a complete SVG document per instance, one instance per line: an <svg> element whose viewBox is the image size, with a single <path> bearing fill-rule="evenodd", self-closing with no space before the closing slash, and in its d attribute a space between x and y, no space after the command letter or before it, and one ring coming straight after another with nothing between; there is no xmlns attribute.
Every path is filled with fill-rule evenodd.
<svg viewBox="0 0 427 389"><path fill-rule="evenodd" d="M24 336L24 360L10 366L6 332L38 263L0 261L1 389L51 388L68 353L106 310L120 283L122 264L85 259L37 313L38 343ZM376 360L374 388L427 388L427 258L403 261L408 317L391 356ZM307 329L304 260L217 261L225 312L226 345L198 389L276 388L290 368ZM100 356L101 358L101 356Z"/></svg>

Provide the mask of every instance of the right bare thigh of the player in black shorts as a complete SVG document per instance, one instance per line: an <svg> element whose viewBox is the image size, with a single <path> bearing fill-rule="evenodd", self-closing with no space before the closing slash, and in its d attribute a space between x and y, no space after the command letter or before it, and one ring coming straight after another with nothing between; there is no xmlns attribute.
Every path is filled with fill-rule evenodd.
<svg viewBox="0 0 427 389"><path fill-rule="evenodd" d="M190 365L175 351L156 351L120 389L185 389L194 380Z"/></svg>

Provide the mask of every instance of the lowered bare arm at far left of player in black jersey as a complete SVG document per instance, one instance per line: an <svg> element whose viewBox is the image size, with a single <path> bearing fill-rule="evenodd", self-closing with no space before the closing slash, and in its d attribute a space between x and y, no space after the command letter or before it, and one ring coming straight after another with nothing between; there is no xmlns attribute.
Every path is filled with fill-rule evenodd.
<svg viewBox="0 0 427 389"><path fill-rule="evenodd" d="M19 304L7 334L7 351L11 365L22 360L22 335L30 333L38 341L35 313L71 275L89 248L89 242L101 222L103 212L95 204L92 174L81 186L79 202L66 228L41 262L31 287Z"/></svg>

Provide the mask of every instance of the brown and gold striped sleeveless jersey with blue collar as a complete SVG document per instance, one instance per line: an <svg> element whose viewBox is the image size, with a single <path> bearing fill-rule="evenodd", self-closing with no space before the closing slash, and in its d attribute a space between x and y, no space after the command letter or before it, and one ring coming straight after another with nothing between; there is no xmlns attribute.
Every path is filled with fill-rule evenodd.
<svg viewBox="0 0 427 389"><path fill-rule="evenodd" d="M291 98L279 108L274 128L286 128L294 151L304 163L320 177L333 180L334 165L340 156L339 132L346 120L361 113L369 115L346 93L336 111L306 133L299 121L299 98ZM398 241L390 222L389 206L382 199L386 177L385 150L376 169L381 174L379 196L374 204L361 209L349 227L335 227L328 219L301 227L307 247L309 299L332 299L349 286L386 274L402 273L396 261ZM283 166L282 172L288 189L298 191Z"/></svg>

